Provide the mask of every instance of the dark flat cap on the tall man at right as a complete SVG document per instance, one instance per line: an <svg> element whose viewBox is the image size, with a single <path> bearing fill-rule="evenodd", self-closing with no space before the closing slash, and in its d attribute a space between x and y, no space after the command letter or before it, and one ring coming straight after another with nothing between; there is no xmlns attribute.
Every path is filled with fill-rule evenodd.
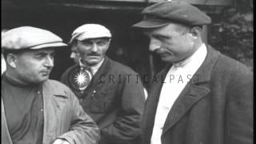
<svg viewBox="0 0 256 144"><path fill-rule="evenodd" d="M211 22L211 18L197 7L181 1L158 2L146 7L142 14L146 18L134 24L134 27L155 28L172 22L186 26L203 26Z"/></svg>

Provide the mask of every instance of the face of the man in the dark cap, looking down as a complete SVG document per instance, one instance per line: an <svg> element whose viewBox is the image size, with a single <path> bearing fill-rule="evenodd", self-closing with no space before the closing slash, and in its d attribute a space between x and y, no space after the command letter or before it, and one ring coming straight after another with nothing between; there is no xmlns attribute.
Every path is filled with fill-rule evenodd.
<svg viewBox="0 0 256 144"><path fill-rule="evenodd" d="M196 50L192 35L182 33L177 26L180 25L171 23L144 32L150 38L150 51L157 53L164 62L180 62Z"/></svg>

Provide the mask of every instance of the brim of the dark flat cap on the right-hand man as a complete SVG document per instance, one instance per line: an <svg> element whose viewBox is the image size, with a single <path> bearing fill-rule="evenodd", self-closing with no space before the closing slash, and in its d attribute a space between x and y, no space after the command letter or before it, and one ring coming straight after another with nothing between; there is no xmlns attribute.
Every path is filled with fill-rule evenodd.
<svg viewBox="0 0 256 144"><path fill-rule="evenodd" d="M169 21L163 21L158 19L145 19L142 22L135 23L133 25L134 28L143 28L143 29L149 29L149 28L157 28L161 26L166 26L170 24Z"/></svg>

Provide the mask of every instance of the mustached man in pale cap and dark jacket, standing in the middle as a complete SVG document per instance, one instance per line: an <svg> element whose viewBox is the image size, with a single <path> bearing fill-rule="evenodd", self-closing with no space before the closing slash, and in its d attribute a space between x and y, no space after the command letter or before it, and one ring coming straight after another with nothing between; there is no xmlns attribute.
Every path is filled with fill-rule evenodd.
<svg viewBox="0 0 256 144"><path fill-rule="evenodd" d="M100 144L136 144L145 96L138 74L106 56L112 35L99 24L79 26L71 46L80 61L62 75L101 130Z"/></svg>

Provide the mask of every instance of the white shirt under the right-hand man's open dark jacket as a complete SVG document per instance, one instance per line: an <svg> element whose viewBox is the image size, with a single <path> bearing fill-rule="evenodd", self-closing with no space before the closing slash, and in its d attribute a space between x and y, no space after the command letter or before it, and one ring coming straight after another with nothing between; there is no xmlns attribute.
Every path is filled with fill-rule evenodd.
<svg viewBox="0 0 256 144"><path fill-rule="evenodd" d="M151 144L162 144L162 129L166 122L166 117L179 94L181 94L186 84L190 82L190 79L202 65L206 54L206 45L202 44L190 58L186 58L182 62L174 63L166 74L154 118Z"/></svg>

